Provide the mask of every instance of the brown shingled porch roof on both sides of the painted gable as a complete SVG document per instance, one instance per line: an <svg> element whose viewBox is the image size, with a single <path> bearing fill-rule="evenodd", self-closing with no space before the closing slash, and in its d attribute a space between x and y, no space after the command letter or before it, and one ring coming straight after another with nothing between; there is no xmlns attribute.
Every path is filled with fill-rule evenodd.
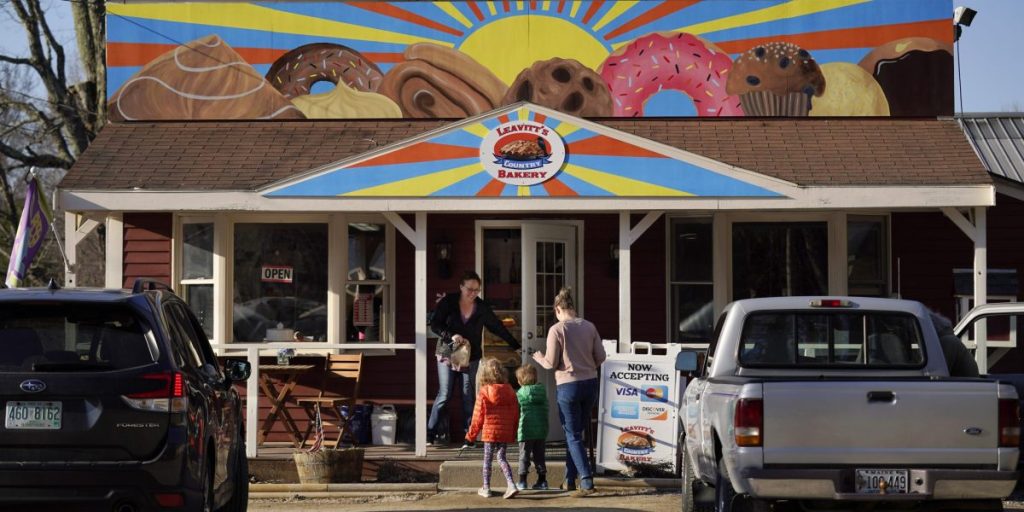
<svg viewBox="0 0 1024 512"><path fill-rule="evenodd" d="M801 186L991 185L951 119L603 119L596 122ZM455 121L108 125L63 190L256 190Z"/></svg>

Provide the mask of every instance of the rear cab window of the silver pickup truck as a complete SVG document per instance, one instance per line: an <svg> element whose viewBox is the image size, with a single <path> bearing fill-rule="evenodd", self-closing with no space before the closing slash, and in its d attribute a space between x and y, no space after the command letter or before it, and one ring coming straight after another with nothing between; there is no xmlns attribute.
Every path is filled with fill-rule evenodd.
<svg viewBox="0 0 1024 512"><path fill-rule="evenodd" d="M743 325L744 367L920 368L916 317L891 312L771 311Z"/></svg>

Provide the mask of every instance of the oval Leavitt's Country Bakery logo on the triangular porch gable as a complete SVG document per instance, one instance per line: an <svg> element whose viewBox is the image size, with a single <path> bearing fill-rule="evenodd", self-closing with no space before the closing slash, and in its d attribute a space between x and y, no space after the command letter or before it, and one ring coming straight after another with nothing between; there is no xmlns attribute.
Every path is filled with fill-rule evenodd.
<svg viewBox="0 0 1024 512"><path fill-rule="evenodd" d="M535 185L555 176L565 162L565 143L555 130L532 121L513 121L490 130L480 145L487 173L512 185Z"/></svg>

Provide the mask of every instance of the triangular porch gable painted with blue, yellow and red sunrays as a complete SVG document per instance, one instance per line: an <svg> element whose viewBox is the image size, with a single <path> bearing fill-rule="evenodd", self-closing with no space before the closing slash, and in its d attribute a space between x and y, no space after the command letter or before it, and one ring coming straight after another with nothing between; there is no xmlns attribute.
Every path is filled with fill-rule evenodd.
<svg viewBox="0 0 1024 512"><path fill-rule="evenodd" d="M782 198L731 166L528 104L270 187L269 198Z"/></svg>

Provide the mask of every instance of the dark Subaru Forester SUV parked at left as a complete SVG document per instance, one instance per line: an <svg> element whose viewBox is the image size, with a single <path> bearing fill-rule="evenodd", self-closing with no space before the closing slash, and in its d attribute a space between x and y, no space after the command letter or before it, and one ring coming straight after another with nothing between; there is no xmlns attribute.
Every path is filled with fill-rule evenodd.
<svg viewBox="0 0 1024 512"><path fill-rule="evenodd" d="M249 364L156 288L0 290L0 510L246 510Z"/></svg>

